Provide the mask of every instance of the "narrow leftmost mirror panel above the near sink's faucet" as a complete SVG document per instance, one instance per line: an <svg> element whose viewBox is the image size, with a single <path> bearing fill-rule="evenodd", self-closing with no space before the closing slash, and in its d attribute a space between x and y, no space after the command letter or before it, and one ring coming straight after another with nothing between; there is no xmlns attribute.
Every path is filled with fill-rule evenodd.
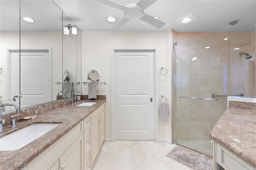
<svg viewBox="0 0 256 170"><path fill-rule="evenodd" d="M12 98L20 94L20 72L17 72L19 57L13 61L13 56L20 55L20 0L1 0L0 17L0 104L19 105L20 100L14 101ZM11 67L17 69L12 70ZM8 110L10 107L2 109Z"/></svg>

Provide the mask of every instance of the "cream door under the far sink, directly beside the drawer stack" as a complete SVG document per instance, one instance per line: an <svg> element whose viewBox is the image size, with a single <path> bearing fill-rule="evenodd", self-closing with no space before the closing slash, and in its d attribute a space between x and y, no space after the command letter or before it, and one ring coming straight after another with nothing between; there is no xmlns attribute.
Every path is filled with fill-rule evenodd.
<svg viewBox="0 0 256 170"><path fill-rule="evenodd" d="M100 115L92 122L92 164L100 150Z"/></svg>

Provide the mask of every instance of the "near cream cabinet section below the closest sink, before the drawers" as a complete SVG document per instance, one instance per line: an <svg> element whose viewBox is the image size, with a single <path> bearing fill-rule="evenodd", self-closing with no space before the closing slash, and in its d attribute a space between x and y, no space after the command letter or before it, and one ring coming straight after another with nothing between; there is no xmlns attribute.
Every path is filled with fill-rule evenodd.
<svg viewBox="0 0 256 170"><path fill-rule="evenodd" d="M29 162L26 170L61 170L64 169L64 167L69 169L68 167L74 166L76 166L76 169L83 169L83 130L84 124L81 122L52 146L44 150L42 154Z"/></svg>

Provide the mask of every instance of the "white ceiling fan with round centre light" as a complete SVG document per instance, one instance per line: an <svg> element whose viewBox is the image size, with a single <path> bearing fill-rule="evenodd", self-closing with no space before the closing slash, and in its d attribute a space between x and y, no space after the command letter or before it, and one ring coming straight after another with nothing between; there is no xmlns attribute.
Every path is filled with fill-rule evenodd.
<svg viewBox="0 0 256 170"><path fill-rule="evenodd" d="M97 1L123 11L124 18L119 23L117 23L112 29L119 29L124 24L126 24L129 20L137 20L137 19L145 21L156 28L161 28L162 26L165 25L163 21L160 21L159 19L154 18L153 16L150 16L144 12L146 8L148 8L157 0L140 0L137 4L128 4L126 6L123 6L122 4L118 4L117 2L114 2L112 0L97 0Z"/></svg>

